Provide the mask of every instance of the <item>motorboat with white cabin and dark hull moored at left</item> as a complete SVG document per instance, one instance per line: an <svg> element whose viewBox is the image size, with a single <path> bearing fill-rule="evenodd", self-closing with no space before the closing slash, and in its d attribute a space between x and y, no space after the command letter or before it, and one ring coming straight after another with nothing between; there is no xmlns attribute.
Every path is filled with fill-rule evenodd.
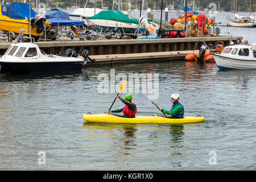
<svg viewBox="0 0 256 182"><path fill-rule="evenodd" d="M43 54L34 43L13 43L0 57L0 72L42 73L79 70L87 63L88 51L82 53L84 59L77 58L72 49L65 56Z"/></svg>

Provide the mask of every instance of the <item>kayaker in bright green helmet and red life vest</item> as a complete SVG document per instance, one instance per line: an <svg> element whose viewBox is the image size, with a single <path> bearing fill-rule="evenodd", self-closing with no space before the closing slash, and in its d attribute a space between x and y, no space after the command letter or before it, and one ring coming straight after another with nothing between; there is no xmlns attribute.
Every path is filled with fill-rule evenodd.
<svg viewBox="0 0 256 182"><path fill-rule="evenodd" d="M115 96L115 98L119 98L126 106L122 109L109 110L107 113L120 113L123 111L123 114L125 114L126 117L135 117L135 114L137 113L137 106L131 102L133 99L131 94L126 94L123 98L120 96Z"/></svg>

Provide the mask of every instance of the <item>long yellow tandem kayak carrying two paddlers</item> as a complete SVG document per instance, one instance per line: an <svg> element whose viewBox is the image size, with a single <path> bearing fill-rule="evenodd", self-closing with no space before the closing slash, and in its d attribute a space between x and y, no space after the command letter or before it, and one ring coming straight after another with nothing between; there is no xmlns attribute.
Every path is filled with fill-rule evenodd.
<svg viewBox="0 0 256 182"><path fill-rule="evenodd" d="M134 118L119 117L113 114L84 114L82 118L87 122L98 123L161 123L161 124L177 124L177 123L196 123L204 122L202 116L192 117L185 116L184 118L167 118L159 115L144 116L137 115Z"/></svg>

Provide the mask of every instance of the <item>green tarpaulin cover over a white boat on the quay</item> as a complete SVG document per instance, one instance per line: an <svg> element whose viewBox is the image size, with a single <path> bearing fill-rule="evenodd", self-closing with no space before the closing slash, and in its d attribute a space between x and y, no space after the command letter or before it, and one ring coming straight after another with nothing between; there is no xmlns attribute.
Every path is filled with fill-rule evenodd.
<svg viewBox="0 0 256 182"><path fill-rule="evenodd" d="M123 14L121 11L118 10L106 10L101 11L100 13L87 17L87 19L108 19L108 20L114 20L118 22L128 22L128 23L135 23L139 24L138 19L131 19L128 18L125 14Z"/></svg>

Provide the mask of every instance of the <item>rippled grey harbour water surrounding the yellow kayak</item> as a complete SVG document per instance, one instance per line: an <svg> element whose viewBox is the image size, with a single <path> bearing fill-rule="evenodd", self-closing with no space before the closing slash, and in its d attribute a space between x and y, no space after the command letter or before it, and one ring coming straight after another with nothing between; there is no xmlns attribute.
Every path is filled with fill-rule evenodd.
<svg viewBox="0 0 256 182"><path fill-rule="evenodd" d="M98 93L110 67L45 75L0 75L1 170L255 170L256 70L219 72L215 63L184 61L117 65L124 73L159 73L159 96L170 109L179 93L186 125L85 123L114 93ZM119 87L119 81L116 81ZM142 84L142 83L141 83ZM127 85L127 88L129 85ZM110 90L109 90L110 91ZM138 115L159 114L148 94L133 93ZM123 96L127 90L124 90ZM113 109L123 104L117 100ZM38 152L46 164L38 164ZM209 164L214 152L216 164Z"/></svg>

